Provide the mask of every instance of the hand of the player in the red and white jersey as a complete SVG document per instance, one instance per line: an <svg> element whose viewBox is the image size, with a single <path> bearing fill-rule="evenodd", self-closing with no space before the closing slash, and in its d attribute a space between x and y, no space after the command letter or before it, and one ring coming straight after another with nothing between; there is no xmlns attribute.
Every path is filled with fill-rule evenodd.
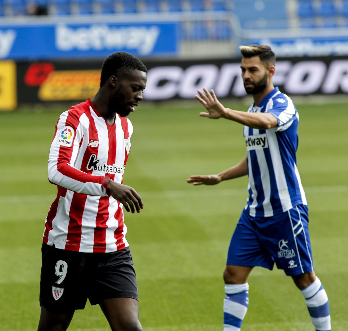
<svg viewBox="0 0 348 331"><path fill-rule="evenodd" d="M111 196L125 207L127 212L140 213L140 210L144 208L140 195L132 187L116 183L110 179L108 190Z"/></svg>

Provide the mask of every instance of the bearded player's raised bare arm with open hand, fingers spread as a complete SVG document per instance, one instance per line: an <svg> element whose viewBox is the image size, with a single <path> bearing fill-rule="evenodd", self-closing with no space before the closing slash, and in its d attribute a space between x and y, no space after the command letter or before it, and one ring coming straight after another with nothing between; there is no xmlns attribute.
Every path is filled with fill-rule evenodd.
<svg viewBox="0 0 348 331"><path fill-rule="evenodd" d="M199 116L209 117L209 118L227 118L232 121L238 122L240 124L246 125L253 129L270 129L272 127L278 126L278 121L276 117L270 113L248 113L245 111L232 110L225 108L214 93L214 90L209 91L204 88L205 94L198 90L198 95L196 99L203 104L208 112L200 112Z"/></svg>

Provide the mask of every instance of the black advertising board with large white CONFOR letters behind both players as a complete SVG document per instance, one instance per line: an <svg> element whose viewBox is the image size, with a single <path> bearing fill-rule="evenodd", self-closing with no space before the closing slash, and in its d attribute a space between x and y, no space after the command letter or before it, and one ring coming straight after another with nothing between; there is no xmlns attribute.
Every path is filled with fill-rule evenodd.
<svg viewBox="0 0 348 331"><path fill-rule="evenodd" d="M246 95L239 60L146 61L144 100L193 99L197 89L218 97ZM102 61L17 63L18 103L84 101L99 88ZM275 86L288 95L348 93L346 57L279 58Z"/></svg>

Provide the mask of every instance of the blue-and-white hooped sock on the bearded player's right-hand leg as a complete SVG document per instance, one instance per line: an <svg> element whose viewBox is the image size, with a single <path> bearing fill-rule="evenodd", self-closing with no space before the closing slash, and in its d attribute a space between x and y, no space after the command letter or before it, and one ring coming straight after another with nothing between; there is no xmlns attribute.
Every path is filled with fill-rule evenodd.
<svg viewBox="0 0 348 331"><path fill-rule="evenodd" d="M331 331L329 300L319 278L301 290L316 331Z"/></svg>

